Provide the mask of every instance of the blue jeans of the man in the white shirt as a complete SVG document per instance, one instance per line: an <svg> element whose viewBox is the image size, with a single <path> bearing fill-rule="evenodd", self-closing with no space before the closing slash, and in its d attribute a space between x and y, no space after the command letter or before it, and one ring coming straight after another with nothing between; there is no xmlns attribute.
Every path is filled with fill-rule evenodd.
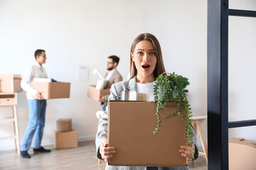
<svg viewBox="0 0 256 170"><path fill-rule="evenodd" d="M32 99L28 100L29 123L23 137L21 151L28 150L31 147L33 135L35 135L34 147L40 148L43 137L43 128L46 120L46 100Z"/></svg>

